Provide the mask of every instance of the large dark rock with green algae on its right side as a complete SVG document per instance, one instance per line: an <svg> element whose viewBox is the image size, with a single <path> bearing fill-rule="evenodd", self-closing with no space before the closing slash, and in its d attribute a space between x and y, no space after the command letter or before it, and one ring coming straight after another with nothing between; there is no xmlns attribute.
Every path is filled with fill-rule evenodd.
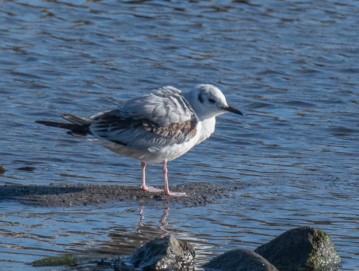
<svg viewBox="0 0 359 271"><path fill-rule="evenodd" d="M287 230L255 252L280 271L336 270L341 261L329 235L308 226Z"/></svg>

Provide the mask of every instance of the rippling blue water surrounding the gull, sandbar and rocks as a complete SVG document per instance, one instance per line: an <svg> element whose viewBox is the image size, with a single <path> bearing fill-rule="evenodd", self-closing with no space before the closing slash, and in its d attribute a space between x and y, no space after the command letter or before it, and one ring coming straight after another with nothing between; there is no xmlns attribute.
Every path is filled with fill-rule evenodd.
<svg viewBox="0 0 359 271"><path fill-rule="evenodd" d="M27 263L130 254L167 233L194 244L198 270L299 225L325 230L340 270L359 270L358 14L349 0L1 1L1 184L139 186L139 162L34 121L210 83L245 116L218 117L168 164L169 183L246 188L193 207L1 202L0 270L59 270ZM162 184L160 164L146 170Z"/></svg>

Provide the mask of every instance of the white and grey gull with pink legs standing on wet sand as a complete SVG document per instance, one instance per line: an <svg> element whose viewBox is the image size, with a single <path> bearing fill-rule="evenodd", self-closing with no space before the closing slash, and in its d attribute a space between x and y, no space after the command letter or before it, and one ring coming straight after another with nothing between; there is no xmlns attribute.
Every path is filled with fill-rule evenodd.
<svg viewBox="0 0 359 271"><path fill-rule="evenodd" d="M214 85L201 84L188 92L174 87L159 88L89 118L61 115L71 123L36 122L67 129L70 135L85 137L121 156L141 161L141 189L147 192L163 191L146 186L145 178L146 162L161 162L164 194L186 196L169 191L167 161L208 139L214 132L215 117L226 112L243 115L228 106L223 93Z"/></svg>

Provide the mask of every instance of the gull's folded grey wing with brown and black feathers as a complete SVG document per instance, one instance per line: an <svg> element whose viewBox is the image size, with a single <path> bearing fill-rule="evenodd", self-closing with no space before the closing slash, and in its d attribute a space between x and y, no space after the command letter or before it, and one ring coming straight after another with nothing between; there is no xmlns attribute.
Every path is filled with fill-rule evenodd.
<svg viewBox="0 0 359 271"><path fill-rule="evenodd" d="M92 116L90 132L136 149L181 144L196 134L196 115L173 87L127 101L117 109Z"/></svg>

